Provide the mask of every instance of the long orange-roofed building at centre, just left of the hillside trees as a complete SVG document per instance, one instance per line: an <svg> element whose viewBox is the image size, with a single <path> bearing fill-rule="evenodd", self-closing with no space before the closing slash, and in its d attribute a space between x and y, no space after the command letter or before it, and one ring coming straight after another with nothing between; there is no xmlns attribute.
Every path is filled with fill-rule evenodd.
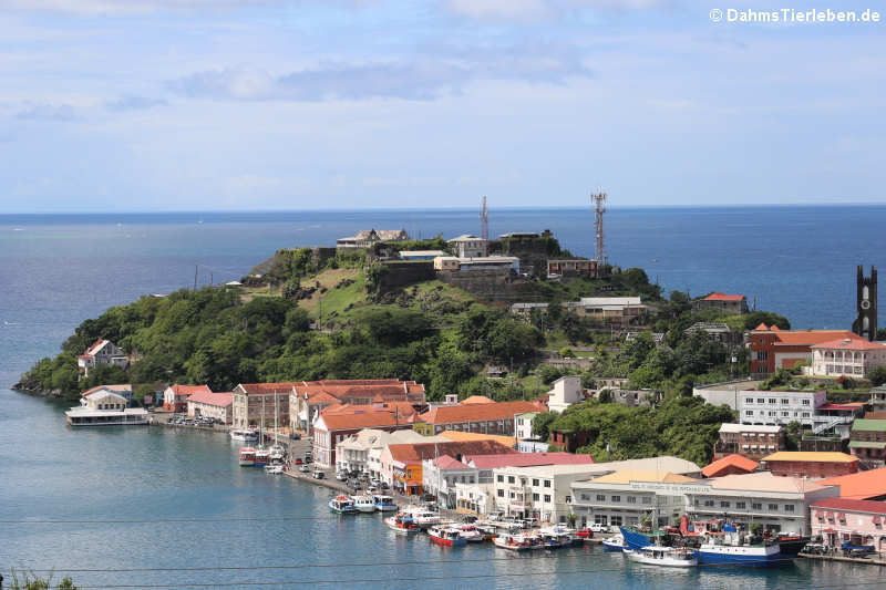
<svg viewBox="0 0 886 590"><path fill-rule="evenodd" d="M540 410L544 407L534 402L437 406L419 415L415 431L425 435L440 434L443 431L462 431L513 436L515 415Z"/></svg>

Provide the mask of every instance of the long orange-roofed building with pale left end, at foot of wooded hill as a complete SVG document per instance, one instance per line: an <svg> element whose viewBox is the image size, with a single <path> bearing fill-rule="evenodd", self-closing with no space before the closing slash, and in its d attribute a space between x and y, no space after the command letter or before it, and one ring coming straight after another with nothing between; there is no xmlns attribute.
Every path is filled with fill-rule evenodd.
<svg viewBox="0 0 886 590"><path fill-rule="evenodd" d="M409 402L415 410L424 408L424 385L396 379L299 381L291 385L287 415L293 431L310 435L311 424L326 407L391 402Z"/></svg>

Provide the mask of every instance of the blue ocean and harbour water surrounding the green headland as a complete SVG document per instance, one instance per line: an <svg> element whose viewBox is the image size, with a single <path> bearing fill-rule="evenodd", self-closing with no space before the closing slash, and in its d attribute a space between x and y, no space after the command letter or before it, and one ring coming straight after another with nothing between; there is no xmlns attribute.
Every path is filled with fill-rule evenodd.
<svg viewBox="0 0 886 590"><path fill-rule="evenodd" d="M490 226L493 236L550 229L573 253L594 256L590 207L492 209ZM744 293L795 328L848 329L855 266L884 267L885 226L886 206L612 208L607 253L666 291ZM278 248L332 245L368 228L451 238L477 234L480 220L461 209L0 216L0 572L54 568L93 588L611 590L808 588L876 576L812 563L663 572L591 549L528 559L441 550L394 538L373 517L332 518L326 490L237 467L222 435L72 431L60 404L8 390L111 306L190 287L195 270L198 284L235 280ZM74 571L84 569L97 571Z"/></svg>

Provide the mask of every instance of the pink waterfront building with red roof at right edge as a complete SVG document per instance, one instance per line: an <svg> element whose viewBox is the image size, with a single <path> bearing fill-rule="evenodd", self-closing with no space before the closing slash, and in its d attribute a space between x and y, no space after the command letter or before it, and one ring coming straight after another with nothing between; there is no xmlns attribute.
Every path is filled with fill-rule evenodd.
<svg viewBox="0 0 886 590"><path fill-rule="evenodd" d="M812 535L828 547L868 545L886 553L886 501L826 498L814 503Z"/></svg>

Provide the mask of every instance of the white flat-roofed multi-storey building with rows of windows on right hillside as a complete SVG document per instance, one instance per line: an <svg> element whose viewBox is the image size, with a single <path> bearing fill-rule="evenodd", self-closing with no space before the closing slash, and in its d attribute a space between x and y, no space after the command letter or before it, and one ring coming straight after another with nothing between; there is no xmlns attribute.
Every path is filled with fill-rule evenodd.
<svg viewBox="0 0 886 590"><path fill-rule="evenodd" d="M742 391L739 395L739 420L742 424L779 424L799 422L812 428L815 410L827 402L822 391ZM827 422L821 418L818 422Z"/></svg>

